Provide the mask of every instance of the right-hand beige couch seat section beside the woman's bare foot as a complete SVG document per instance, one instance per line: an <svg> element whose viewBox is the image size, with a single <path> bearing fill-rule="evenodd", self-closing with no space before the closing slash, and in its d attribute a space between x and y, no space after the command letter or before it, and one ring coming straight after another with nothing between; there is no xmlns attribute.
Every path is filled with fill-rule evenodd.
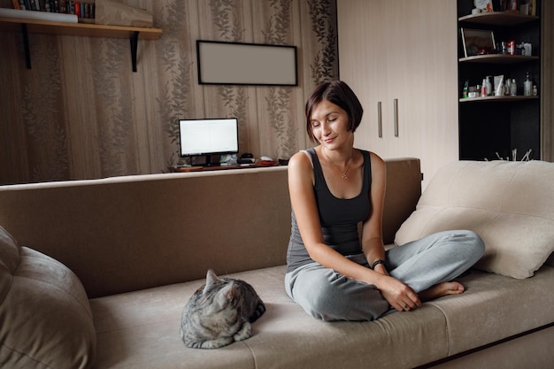
<svg viewBox="0 0 554 369"><path fill-rule="evenodd" d="M458 279L466 288L462 296L426 304L446 317L451 356L554 322L553 280L554 268L548 265L527 279L473 270Z"/></svg>

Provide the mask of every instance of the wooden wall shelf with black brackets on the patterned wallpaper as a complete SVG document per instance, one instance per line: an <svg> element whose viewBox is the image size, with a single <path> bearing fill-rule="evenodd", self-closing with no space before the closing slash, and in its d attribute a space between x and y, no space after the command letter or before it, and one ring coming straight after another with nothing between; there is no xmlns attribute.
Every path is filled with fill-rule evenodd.
<svg viewBox="0 0 554 369"><path fill-rule="evenodd" d="M128 38L131 44L131 63L136 72L138 40L158 40L159 28L104 26L89 23L64 23L48 20L0 18L0 31L21 32L25 48L27 68L31 68L29 34L75 35L83 37Z"/></svg>

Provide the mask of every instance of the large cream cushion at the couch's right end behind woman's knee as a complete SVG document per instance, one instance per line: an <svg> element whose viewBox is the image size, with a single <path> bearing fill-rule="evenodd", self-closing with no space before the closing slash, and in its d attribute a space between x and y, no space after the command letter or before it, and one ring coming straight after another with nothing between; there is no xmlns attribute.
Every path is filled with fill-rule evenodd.
<svg viewBox="0 0 554 369"><path fill-rule="evenodd" d="M527 278L554 250L554 164L460 161L435 174L396 233L404 244L448 229L470 229L485 242L477 267Z"/></svg>

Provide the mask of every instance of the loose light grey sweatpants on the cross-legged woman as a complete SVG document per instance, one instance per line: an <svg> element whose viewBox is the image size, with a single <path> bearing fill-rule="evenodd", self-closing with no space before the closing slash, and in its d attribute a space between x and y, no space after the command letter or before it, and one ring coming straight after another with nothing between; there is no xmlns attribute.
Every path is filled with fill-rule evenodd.
<svg viewBox="0 0 554 369"><path fill-rule="evenodd" d="M419 293L466 272L484 250L481 238L471 231L440 232L388 250L387 270ZM369 267L363 254L347 258ZM290 298L317 319L373 320L389 311L389 303L372 284L315 262L287 273L285 288Z"/></svg>

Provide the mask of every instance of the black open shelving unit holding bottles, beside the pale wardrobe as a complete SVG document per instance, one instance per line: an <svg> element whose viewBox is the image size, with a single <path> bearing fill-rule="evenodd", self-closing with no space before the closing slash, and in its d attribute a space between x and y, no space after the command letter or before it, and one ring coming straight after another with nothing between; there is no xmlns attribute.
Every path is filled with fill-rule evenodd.
<svg viewBox="0 0 554 369"><path fill-rule="evenodd" d="M537 14L541 2L537 0ZM530 73L533 84L541 81L541 18L519 12L471 14L473 0L458 0L458 29L493 31L495 42L530 42L532 55L487 54L465 57L461 35L458 38L458 114L459 158L484 160L512 157L518 159L531 150L531 158L541 156L541 96L524 96L523 81ZM478 96L463 98L466 81L481 85L486 76L504 75L515 79L517 96ZM540 90L540 88L539 88Z"/></svg>

